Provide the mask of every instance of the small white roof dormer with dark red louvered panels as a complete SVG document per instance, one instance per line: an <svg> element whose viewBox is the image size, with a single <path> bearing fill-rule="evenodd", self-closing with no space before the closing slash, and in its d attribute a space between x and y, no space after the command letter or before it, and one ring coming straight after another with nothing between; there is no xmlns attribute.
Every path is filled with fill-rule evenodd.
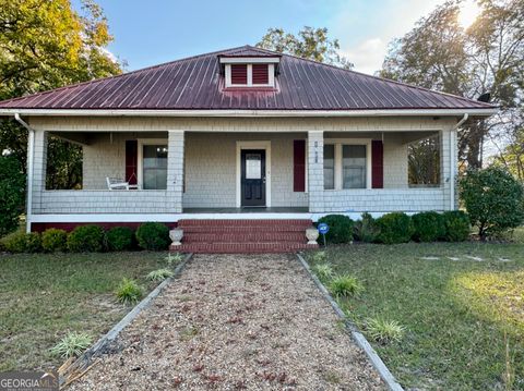
<svg viewBox="0 0 524 391"><path fill-rule="evenodd" d="M274 88L277 57L221 57L226 88Z"/></svg>

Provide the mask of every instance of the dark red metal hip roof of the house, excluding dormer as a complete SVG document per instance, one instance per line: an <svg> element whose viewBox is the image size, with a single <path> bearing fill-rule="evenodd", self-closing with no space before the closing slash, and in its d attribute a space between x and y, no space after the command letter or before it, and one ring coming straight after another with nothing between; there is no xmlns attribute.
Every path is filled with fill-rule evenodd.
<svg viewBox="0 0 524 391"><path fill-rule="evenodd" d="M224 90L219 56L282 56L274 90ZM492 109L437 93L250 46L0 101L0 109L394 110Z"/></svg>

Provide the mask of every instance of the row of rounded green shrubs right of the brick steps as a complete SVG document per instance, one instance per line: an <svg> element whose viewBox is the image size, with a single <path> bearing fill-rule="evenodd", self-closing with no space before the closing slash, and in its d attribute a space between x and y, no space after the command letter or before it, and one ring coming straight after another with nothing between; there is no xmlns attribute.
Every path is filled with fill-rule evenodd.
<svg viewBox="0 0 524 391"><path fill-rule="evenodd" d="M364 213L361 220L347 216L329 215L319 220L330 225L329 243L349 243L353 240L367 243L462 242L469 236L471 223L460 210L438 213L425 211L412 217L403 212L386 213L378 219ZM319 243L321 243L319 239Z"/></svg>

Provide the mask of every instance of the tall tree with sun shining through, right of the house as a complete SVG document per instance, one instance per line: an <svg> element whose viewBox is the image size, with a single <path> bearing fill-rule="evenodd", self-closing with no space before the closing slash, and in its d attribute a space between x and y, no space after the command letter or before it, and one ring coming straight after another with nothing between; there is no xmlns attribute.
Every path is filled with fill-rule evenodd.
<svg viewBox="0 0 524 391"><path fill-rule="evenodd" d="M461 158L480 168L486 138L508 134L524 118L524 0L479 0L481 12L467 29L457 22L462 2L439 5L393 41L380 75L473 99L489 91L501 112L468 121L460 133Z"/></svg>

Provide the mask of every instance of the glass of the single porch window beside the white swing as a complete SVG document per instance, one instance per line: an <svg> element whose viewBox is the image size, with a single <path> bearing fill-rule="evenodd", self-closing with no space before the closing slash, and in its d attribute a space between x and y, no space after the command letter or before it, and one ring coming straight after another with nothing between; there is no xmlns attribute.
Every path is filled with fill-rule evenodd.
<svg viewBox="0 0 524 391"><path fill-rule="evenodd" d="M167 188L167 145L144 145L143 188Z"/></svg>

